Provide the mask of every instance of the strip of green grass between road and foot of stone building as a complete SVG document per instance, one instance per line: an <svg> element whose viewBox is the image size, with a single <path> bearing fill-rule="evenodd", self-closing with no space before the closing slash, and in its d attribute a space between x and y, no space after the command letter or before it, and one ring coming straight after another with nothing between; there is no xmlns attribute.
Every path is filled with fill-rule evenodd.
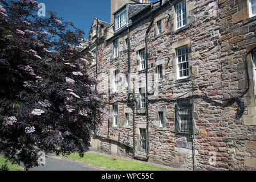
<svg viewBox="0 0 256 182"><path fill-rule="evenodd" d="M99 167L113 168L120 171L172 171L168 168L151 166L149 164L134 162L131 160L109 158L99 154L85 154L84 158L80 158L79 154L70 154L67 155L67 157Z"/></svg>

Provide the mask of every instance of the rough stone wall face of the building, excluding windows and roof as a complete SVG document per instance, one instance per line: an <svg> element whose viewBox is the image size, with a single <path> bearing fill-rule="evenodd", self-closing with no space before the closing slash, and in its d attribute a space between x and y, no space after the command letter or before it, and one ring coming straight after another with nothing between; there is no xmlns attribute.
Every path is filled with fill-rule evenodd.
<svg viewBox="0 0 256 182"><path fill-rule="evenodd" d="M246 1L247 2L247 1ZM148 160L168 166L192 169L192 141L177 135L174 129L174 107L178 98L193 97L194 163L197 170L251 170L256 169L256 133L253 115L256 114L251 56L247 55L256 42L254 22L248 18L247 3L239 0L187 0L187 26L177 30L174 6L166 5L154 14L154 22L148 34L148 73L157 73L157 66L164 68L164 78L156 90L149 93ZM245 10L246 9L246 10ZM164 32L156 34L156 23L164 22ZM131 73L135 80L145 77L139 71L139 51L145 48L145 33L151 17L130 28ZM112 30L109 30L112 31ZM106 92L102 93L111 118L105 119L97 131L97 150L116 155L132 155L132 109L127 104L127 92L112 93L110 81L113 71L127 74L128 55L124 31L100 44L98 51L99 73ZM113 59L113 40L119 38L119 57ZM188 46L189 78L177 80L176 49ZM248 61L250 60L250 61ZM250 89L241 97L246 109L239 115L240 101L245 92L248 61ZM150 80L150 79L149 79ZM124 81L121 78L120 82ZM131 81L131 85L133 81ZM135 85L135 98L139 101L139 88ZM109 89L109 90L108 90ZM121 88L120 88L121 89ZM108 92L109 91L109 92ZM108 94L110 93L110 94ZM113 127L113 104L118 105L119 126ZM160 127L158 111L164 112L165 126ZM129 113L129 125L125 124ZM135 106L135 155L145 159L140 151L140 128L147 127L145 111ZM109 131L109 132L108 132ZM108 138L108 139L106 139ZM126 146L126 147L125 147Z"/></svg>

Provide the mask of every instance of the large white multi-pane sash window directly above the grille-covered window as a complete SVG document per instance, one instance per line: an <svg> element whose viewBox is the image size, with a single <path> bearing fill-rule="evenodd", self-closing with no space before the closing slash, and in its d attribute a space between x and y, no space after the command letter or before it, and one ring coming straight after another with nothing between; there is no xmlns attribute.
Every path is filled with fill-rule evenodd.
<svg viewBox="0 0 256 182"><path fill-rule="evenodd" d="M182 50L185 51L185 53L182 53ZM178 52L181 52L181 54L179 55ZM178 48L176 50L176 55L177 55L177 79L184 79L184 78L189 78L189 54L188 54L188 46L186 47L182 47L182 48ZM184 56L185 60L182 60L182 57ZM181 62L179 63L179 58L181 59ZM188 64L188 68L184 68L184 64ZM181 65L181 68L180 68ZM184 76L184 72L183 71L187 71L187 74ZM180 74L180 71L182 71L182 75Z"/></svg>

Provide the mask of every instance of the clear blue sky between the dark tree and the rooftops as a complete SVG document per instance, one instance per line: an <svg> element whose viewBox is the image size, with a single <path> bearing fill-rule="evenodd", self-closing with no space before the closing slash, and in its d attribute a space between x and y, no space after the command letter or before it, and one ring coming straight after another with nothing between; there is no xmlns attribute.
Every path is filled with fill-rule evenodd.
<svg viewBox="0 0 256 182"><path fill-rule="evenodd" d="M86 39L95 17L110 23L111 0L38 0L38 2L46 5L46 11L55 11L58 17L71 20L76 27L86 33Z"/></svg>

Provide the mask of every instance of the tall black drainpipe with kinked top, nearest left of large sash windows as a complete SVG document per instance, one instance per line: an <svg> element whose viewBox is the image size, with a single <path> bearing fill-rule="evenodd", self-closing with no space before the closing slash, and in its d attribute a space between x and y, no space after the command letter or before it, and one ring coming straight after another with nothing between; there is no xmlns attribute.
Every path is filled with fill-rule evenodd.
<svg viewBox="0 0 256 182"><path fill-rule="evenodd" d="M154 15L152 12L152 4L151 4L151 23L149 24L149 27L147 29L146 35L145 35L145 62L146 62L146 114L147 114L147 160L149 159L149 139L148 139L148 33L151 30L152 24L154 22Z"/></svg>

